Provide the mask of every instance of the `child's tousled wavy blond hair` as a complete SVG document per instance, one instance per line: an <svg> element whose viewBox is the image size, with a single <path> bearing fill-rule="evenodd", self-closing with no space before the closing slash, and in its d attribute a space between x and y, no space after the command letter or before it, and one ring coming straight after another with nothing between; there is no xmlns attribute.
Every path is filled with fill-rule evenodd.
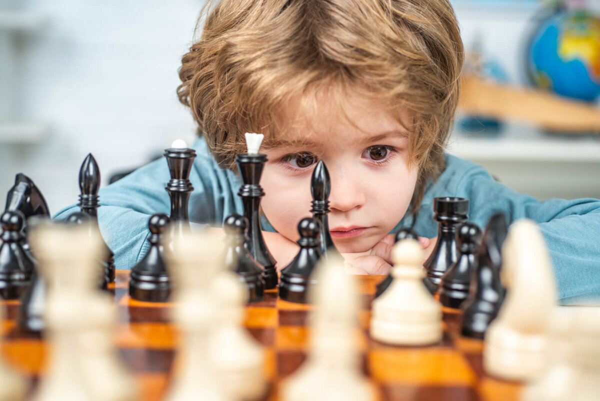
<svg viewBox="0 0 600 401"><path fill-rule="evenodd" d="M221 0L202 11L200 29L177 93L221 166L235 170L245 132L268 146L290 100L323 85L360 90L410 133L418 210L443 170L460 92L463 43L448 0Z"/></svg>

